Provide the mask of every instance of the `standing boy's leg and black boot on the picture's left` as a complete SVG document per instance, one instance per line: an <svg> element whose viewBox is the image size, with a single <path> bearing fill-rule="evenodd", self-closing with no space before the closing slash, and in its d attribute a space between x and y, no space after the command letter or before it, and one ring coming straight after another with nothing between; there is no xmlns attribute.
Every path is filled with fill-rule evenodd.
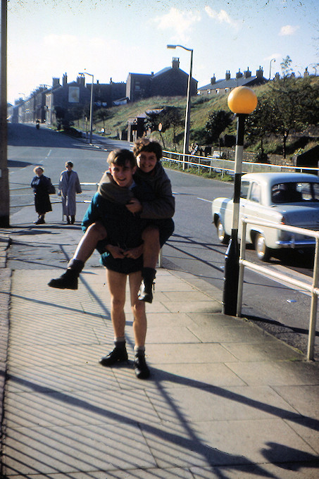
<svg viewBox="0 0 319 479"><path fill-rule="evenodd" d="M111 353L103 356L99 362L102 366L127 361L125 346L125 286L127 275L116 271L106 270L108 290L111 294L111 320L114 330L114 349Z"/></svg>

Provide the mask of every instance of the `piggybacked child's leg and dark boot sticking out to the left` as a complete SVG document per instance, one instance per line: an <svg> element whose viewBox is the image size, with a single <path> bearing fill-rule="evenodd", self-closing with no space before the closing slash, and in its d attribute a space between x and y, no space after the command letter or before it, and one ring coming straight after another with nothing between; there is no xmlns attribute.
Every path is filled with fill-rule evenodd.
<svg viewBox="0 0 319 479"><path fill-rule="evenodd" d="M68 269L59 278L49 281L48 285L60 290L77 290L78 278L85 266L85 262L92 255L96 244L105 239L106 229L99 223L89 225L85 235L77 245L73 259L68 263Z"/></svg>

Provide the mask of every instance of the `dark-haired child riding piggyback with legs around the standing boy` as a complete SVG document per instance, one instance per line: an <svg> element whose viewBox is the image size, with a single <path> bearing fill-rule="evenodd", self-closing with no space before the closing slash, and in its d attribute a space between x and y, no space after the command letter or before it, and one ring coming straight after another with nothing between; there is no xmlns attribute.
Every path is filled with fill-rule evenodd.
<svg viewBox="0 0 319 479"><path fill-rule="evenodd" d="M101 197L113 198L114 202L126 205L127 211L139 216L144 227L142 232L143 243L136 251L143 255L142 285L139 290L139 300L151 303L153 300L153 285L156 275L158 254L163 244L174 231L173 215L175 213L175 199L168 175L161 165L162 149L158 142L149 139L139 139L133 149L137 161L137 170L134 175L136 185L148 186L139 198L132 193L132 187L122 188L116 184L109 172L106 171L99 183L98 194ZM143 189L142 189L143 190ZM151 194L150 194L151 191ZM68 263L68 269L60 278L53 279L49 286L60 289L77 290L78 277L85 261L92 255L94 249L103 254L108 248L108 224L96 220L88 223L86 217L82 222L85 235L75 250L73 259ZM113 251L113 255L125 255L125 246L121 251ZM120 259L121 256L118 256Z"/></svg>

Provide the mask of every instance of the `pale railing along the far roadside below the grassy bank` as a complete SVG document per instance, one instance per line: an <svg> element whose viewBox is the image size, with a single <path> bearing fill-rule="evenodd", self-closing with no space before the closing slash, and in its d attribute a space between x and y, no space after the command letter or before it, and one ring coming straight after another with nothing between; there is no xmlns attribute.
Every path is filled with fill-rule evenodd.
<svg viewBox="0 0 319 479"><path fill-rule="evenodd" d="M234 174L234 161L225 160L223 158L216 158L215 156L197 156L197 155L184 155L182 153L176 153L174 151L163 151L163 160L168 163L177 163L182 166L183 169L189 170L189 168L196 168L198 170L213 170L218 173L230 173ZM268 173L270 171L280 173L282 171L287 172L299 172L299 173L313 173L316 172L319 175L319 168L308 168L306 166L287 166L287 165L272 165L270 163L254 163L252 161L242 162L242 173Z"/></svg>

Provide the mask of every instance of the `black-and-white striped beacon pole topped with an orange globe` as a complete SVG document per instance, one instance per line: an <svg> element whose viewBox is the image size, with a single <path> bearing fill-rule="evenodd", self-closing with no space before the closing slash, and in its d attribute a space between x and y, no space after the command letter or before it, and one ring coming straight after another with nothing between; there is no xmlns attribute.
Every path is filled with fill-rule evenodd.
<svg viewBox="0 0 319 479"><path fill-rule="evenodd" d="M225 276L223 291L223 313L235 316L239 280L239 199L242 177L242 156L244 150L244 125L246 116L257 106L255 92L248 87L234 88L227 99L228 106L237 115L237 136L234 158L234 200L232 208L232 235L225 254Z"/></svg>

